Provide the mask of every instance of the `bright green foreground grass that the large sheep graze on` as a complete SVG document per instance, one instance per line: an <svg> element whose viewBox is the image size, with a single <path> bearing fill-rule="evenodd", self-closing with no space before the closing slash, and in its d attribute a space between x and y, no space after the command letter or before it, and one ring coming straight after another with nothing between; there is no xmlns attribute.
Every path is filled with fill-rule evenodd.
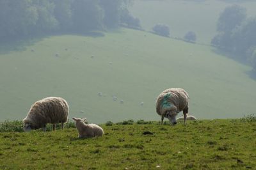
<svg viewBox="0 0 256 170"><path fill-rule="evenodd" d="M256 121L247 120L101 125L104 136L90 139L72 127L1 132L0 169L255 169Z"/></svg>

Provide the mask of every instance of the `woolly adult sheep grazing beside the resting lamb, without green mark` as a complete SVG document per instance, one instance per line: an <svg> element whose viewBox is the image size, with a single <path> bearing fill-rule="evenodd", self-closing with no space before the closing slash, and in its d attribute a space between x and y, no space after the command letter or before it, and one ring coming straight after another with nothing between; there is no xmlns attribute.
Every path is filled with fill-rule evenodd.
<svg viewBox="0 0 256 170"><path fill-rule="evenodd" d="M29 112L24 118L24 131L29 132L31 129L44 128L46 131L46 124L52 123L52 128L55 130L56 123L67 122L69 107L65 99L61 97L47 97L38 100L31 105Z"/></svg>

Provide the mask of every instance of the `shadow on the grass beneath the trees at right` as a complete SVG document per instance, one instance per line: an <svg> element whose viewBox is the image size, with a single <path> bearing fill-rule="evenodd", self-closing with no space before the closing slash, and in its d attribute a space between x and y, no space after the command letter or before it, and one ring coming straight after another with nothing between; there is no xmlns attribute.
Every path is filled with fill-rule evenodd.
<svg viewBox="0 0 256 170"><path fill-rule="evenodd" d="M238 56L234 56L232 54L230 54L229 52L225 52L224 50L220 50L220 49L212 49L212 52L219 54L221 56L225 56L228 59L232 59L234 61L236 61L237 63L241 63L243 65L246 66L252 66L250 65L250 63L248 63L247 61L245 61L243 58L238 57ZM245 72L246 75L248 75L250 77L250 79L253 79L254 81L256 81L256 70L254 70L252 68L252 70Z"/></svg>

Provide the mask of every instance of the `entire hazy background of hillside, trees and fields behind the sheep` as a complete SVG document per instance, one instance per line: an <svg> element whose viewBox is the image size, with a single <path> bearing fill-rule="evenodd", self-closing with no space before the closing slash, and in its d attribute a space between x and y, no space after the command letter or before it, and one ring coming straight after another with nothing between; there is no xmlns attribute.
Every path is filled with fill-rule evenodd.
<svg viewBox="0 0 256 170"><path fill-rule="evenodd" d="M67 100L69 118L160 120L166 88L186 89L199 119L255 113L255 6L0 0L0 120L49 96Z"/></svg>

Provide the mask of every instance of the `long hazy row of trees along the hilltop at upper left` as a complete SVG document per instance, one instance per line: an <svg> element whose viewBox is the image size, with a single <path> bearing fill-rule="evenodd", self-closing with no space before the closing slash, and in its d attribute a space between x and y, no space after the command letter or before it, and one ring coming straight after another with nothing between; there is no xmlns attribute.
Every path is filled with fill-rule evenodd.
<svg viewBox="0 0 256 170"><path fill-rule="evenodd" d="M0 0L0 39L60 31L84 33L140 27L127 10L131 0Z"/></svg>

